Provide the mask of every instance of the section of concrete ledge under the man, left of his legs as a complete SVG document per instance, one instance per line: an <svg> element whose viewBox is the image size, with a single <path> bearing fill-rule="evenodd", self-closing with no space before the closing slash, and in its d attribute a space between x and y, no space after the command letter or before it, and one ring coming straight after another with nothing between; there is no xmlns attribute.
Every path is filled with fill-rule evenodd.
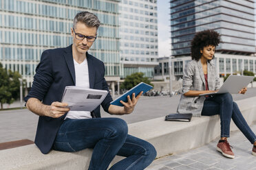
<svg viewBox="0 0 256 170"><path fill-rule="evenodd" d="M88 169L91 156L92 149L44 155L33 144L0 151L0 169Z"/></svg>

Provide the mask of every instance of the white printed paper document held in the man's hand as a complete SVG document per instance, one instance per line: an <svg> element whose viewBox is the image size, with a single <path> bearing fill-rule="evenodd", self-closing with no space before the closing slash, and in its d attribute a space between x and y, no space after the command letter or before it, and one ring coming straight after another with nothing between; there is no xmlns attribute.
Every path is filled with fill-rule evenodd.
<svg viewBox="0 0 256 170"><path fill-rule="evenodd" d="M96 90L78 86L66 86L61 102L72 111L92 112L107 96L107 90Z"/></svg>

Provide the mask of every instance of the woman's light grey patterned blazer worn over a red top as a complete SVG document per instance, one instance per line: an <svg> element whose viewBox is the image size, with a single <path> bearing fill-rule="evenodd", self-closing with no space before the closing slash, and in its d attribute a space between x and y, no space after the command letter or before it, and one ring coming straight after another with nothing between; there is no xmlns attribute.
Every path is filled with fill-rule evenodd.
<svg viewBox="0 0 256 170"><path fill-rule="evenodd" d="M216 73L213 61L207 62L208 86L209 90L217 90L220 88L219 76ZM183 73L182 96L178 105L179 113L193 113L193 116L200 117L204 105L204 96L186 97L184 93L189 90L205 90L204 71L202 69L201 60L192 60L189 62Z"/></svg>

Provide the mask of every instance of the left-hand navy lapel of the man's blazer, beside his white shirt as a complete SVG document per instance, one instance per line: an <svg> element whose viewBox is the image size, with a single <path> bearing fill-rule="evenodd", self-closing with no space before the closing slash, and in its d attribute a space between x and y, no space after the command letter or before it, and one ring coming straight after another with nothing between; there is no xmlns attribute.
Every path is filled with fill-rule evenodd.
<svg viewBox="0 0 256 170"><path fill-rule="evenodd" d="M72 56L72 45L70 45L69 47L67 47L65 49L64 58L67 63L67 67L70 70L72 80L73 80L74 84L76 84L76 73L74 70L74 60L73 60L73 56Z"/></svg>

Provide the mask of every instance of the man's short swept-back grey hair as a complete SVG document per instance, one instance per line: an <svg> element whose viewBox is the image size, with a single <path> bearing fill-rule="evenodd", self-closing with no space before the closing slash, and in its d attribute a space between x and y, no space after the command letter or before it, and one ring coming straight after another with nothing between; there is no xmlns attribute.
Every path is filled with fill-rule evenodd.
<svg viewBox="0 0 256 170"><path fill-rule="evenodd" d="M100 27L100 21L98 20L98 17L95 14L92 14L91 12L79 12L74 17L73 21L73 27L76 28L76 23L81 22L84 23L87 27Z"/></svg>

